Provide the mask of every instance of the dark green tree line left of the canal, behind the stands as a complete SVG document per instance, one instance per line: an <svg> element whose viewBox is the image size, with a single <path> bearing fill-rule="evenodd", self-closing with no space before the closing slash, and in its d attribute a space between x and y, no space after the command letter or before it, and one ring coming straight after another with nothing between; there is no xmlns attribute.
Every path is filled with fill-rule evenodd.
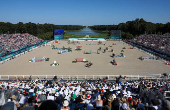
<svg viewBox="0 0 170 110"><path fill-rule="evenodd" d="M83 26L79 25L54 25L54 24L35 24L35 23L23 23L12 24L10 22L0 22L0 31L3 34L14 33L29 33L44 40L50 40L53 38L54 29L64 30L80 30Z"/></svg>

